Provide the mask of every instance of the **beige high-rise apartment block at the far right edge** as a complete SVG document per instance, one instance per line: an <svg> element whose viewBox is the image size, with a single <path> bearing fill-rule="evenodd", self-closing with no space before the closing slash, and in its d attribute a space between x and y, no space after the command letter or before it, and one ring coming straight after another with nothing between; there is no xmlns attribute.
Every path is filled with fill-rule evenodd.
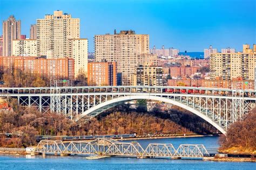
<svg viewBox="0 0 256 170"><path fill-rule="evenodd" d="M241 77L242 80L254 80L256 51L250 45L243 46L243 52L214 53L210 56L212 79L222 77L232 80Z"/></svg>

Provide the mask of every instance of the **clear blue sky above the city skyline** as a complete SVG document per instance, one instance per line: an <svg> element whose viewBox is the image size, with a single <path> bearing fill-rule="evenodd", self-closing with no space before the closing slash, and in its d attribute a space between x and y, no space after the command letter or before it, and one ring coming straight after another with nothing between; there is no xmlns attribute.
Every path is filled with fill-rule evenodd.
<svg viewBox="0 0 256 170"><path fill-rule="evenodd" d="M242 44L256 44L256 0L0 0L1 22L14 15L27 37L36 19L55 10L80 18L80 38L88 38L89 52L95 34L114 29L149 34L150 48L180 52L203 52L210 45L241 51Z"/></svg>

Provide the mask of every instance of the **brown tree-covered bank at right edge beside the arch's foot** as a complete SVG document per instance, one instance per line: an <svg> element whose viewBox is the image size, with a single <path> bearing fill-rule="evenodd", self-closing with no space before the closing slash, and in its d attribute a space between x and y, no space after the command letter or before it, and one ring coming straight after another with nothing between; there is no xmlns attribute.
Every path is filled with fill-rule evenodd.
<svg viewBox="0 0 256 170"><path fill-rule="evenodd" d="M256 151L256 108L245 116L244 121L235 122L220 137L220 151L253 153Z"/></svg>

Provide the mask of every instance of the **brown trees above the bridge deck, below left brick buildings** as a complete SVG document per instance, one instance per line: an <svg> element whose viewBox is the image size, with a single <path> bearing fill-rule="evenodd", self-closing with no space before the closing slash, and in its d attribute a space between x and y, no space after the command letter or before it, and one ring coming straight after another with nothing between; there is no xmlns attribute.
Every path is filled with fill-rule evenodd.
<svg viewBox="0 0 256 170"><path fill-rule="evenodd" d="M60 77L58 80L65 80L66 77ZM4 84L2 87L50 87L54 80L45 75L24 72L18 68L9 68L0 70L0 81ZM59 84L61 86L61 84ZM79 73L75 80L70 81L70 86L87 86L87 76L85 73Z"/></svg>

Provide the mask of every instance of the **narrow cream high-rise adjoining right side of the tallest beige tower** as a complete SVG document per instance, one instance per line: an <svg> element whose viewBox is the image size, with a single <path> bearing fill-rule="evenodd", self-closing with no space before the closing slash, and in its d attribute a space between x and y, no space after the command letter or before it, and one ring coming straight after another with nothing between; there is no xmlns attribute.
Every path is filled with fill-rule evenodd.
<svg viewBox="0 0 256 170"><path fill-rule="evenodd" d="M88 40L69 39L68 57L75 60L75 76L79 72L87 75Z"/></svg>

